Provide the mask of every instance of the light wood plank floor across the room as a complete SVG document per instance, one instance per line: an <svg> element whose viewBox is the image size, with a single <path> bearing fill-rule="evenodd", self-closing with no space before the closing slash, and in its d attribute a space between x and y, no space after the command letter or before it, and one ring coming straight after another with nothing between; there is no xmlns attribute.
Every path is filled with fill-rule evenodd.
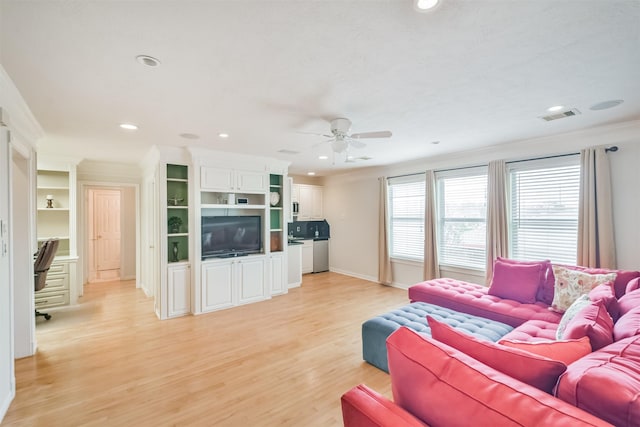
<svg viewBox="0 0 640 427"><path fill-rule="evenodd" d="M91 284L80 305L38 320L2 425L342 425L350 387L391 395L388 375L362 361L362 322L407 302L320 273L269 301L160 321L133 282Z"/></svg>

